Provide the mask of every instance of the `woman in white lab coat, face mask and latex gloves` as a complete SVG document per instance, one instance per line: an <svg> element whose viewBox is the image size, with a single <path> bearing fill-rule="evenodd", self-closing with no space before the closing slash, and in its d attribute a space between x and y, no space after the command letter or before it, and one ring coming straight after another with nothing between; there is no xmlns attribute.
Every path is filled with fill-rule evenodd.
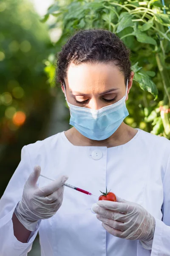
<svg viewBox="0 0 170 256"><path fill-rule="evenodd" d="M42 256L170 255L170 142L123 122L129 54L102 29L62 47L57 74L73 128L23 147L0 200L1 255L26 256L38 231ZM93 195L64 189L67 179ZM117 202L98 202L106 186Z"/></svg>

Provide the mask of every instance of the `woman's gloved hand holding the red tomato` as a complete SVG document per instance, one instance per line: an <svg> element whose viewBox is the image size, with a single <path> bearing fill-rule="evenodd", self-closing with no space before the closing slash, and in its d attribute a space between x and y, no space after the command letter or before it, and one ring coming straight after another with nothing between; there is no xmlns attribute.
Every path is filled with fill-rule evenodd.
<svg viewBox="0 0 170 256"><path fill-rule="evenodd" d="M150 241L155 231L155 218L140 204L116 196L116 202L98 201L93 207L102 226L113 236L129 240Z"/></svg>

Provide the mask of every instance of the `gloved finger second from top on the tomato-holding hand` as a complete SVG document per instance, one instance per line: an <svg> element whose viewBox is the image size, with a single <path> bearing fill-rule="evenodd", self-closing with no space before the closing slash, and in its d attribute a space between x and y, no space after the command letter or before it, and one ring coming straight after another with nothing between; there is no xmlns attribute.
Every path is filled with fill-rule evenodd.
<svg viewBox="0 0 170 256"><path fill-rule="evenodd" d="M112 219L115 221L117 220L117 221L124 222L124 218L125 218L124 213L114 212L113 210L104 209L99 206L94 206L92 209L94 212L96 212L97 214L99 214L102 217L109 218L109 219Z"/></svg>

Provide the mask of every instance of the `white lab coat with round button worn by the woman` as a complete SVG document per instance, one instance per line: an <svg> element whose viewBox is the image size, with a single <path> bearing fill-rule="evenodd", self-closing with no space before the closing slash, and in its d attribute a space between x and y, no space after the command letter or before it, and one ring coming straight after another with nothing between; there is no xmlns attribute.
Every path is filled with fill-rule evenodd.
<svg viewBox="0 0 170 256"><path fill-rule="evenodd" d="M39 231L41 256L170 256L169 155L169 140L140 129L128 143L112 148L74 146L64 132L24 146L0 199L0 255L26 256ZM107 186L119 197L141 204L156 219L152 250L139 240L108 233L91 210L97 198L68 187L57 213L40 221L27 243L18 241L11 217L35 165L54 179L68 175L67 183L94 195ZM50 182L39 177L38 186Z"/></svg>

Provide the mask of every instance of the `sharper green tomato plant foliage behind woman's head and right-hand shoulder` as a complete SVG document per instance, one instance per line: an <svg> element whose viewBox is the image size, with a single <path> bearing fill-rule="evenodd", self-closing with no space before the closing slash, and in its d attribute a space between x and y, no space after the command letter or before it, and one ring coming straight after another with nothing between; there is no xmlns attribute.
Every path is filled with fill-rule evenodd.
<svg viewBox="0 0 170 256"><path fill-rule="evenodd" d="M135 72L127 101L130 115L125 122L167 138L170 138L169 7L170 3L164 11L161 0L59 0L42 19L45 22L53 15L55 21L51 27L62 32L53 56L79 29L102 28L118 35L131 50ZM45 68L51 80L55 73L53 61Z"/></svg>

